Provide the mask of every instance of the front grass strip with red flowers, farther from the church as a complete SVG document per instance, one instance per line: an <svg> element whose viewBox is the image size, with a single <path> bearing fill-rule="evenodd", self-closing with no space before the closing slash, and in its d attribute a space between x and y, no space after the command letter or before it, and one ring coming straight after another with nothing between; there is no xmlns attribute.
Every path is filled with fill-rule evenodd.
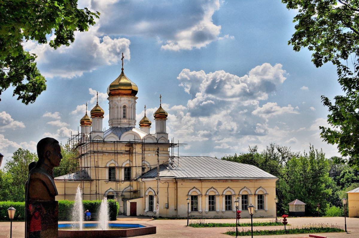
<svg viewBox="0 0 359 238"><path fill-rule="evenodd" d="M280 230L253 230L253 235L284 235L284 234L308 234L308 233L327 233L327 232L344 232L339 225L329 224L309 224L301 227L295 226L290 229ZM236 235L236 228L231 228L224 234ZM238 230L238 235L251 235L251 230L242 228Z"/></svg>

